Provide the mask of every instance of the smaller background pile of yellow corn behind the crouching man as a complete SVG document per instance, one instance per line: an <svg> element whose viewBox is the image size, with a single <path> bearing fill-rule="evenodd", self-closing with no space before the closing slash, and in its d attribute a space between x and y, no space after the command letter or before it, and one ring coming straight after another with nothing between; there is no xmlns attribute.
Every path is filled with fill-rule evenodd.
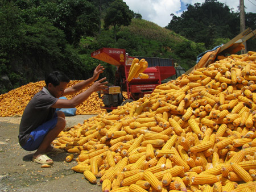
<svg viewBox="0 0 256 192"><path fill-rule="evenodd" d="M80 82L80 80L71 80L68 87L77 84L78 82ZM46 86L44 81L31 82L27 85L18 87L17 89L13 89L8 93L1 94L0 116L21 116L27 103L30 102L36 93L43 89L43 86ZM68 95L67 98L71 99L86 89L83 89L74 95ZM106 110L101 108L103 105L102 99L98 98L98 94L93 93L88 99L76 107L76 115L99 114L105 112Z"/></svg>

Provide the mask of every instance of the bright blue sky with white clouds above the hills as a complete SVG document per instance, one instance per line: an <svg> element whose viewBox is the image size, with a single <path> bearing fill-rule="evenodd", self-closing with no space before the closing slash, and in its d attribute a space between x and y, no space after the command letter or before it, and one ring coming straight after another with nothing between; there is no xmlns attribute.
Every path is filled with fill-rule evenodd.
<svg viewBox="0 0 256 192"><path fill-rule="evenodd" d="M187 9L185 5L203 3L205 0L123 0L130 10L142 15L142 19L166 27L170 23L171 14L180 16ZM240 0L218 0L226 4L229 9L238 11ZM256 12L256 0L244 0L245 12Z"/></svg>

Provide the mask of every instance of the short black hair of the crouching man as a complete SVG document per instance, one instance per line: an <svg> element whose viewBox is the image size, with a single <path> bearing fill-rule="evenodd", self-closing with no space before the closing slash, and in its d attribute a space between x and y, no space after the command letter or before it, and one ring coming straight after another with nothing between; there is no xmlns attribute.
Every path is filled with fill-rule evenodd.
<svg viewBox="0 0 256 192"><path fill-rule="evenodd" d="M54 86L60 85L60 82L67 82L69 83L69 78L59 70L56 70L55 72L49 73L46 77L46 86L48 86L49 83L51 83Z"/></svg>

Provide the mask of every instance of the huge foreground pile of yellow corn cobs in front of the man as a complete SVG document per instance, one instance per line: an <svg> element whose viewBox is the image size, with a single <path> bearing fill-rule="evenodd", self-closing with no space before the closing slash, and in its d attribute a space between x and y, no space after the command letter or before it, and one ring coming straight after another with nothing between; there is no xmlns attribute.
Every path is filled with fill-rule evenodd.
<svg viewBox="0 0 256 192"><path fill-rule="evenodd" d="M102 191L256 191L256 52L231 55L61 132Z"/></svg>

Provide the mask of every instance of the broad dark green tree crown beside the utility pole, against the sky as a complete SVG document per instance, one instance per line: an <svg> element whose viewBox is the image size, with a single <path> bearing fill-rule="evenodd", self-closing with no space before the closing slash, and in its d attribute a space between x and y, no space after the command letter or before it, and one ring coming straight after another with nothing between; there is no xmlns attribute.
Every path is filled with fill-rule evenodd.
<svg viewBox="0 0 256 192"><path fill-rule="evenodd" d="M172 14L167 28L188 39L205 43L213 48L214 39L229 38L240 33L240 19L237 13L217 0L206 0L204 3L187 5L180 17Z"/></svg>

